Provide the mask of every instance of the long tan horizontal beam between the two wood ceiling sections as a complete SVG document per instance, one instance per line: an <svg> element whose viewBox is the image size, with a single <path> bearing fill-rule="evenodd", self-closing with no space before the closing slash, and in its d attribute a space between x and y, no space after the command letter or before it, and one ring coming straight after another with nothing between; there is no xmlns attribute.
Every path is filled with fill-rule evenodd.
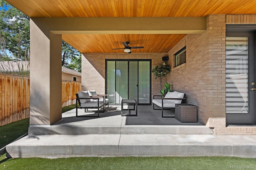
<svg viewBox="0 0 256 170"><path fill-rule="evenodd" d="M206 31L206 17L31 18L54 34L196 34ZM47 35L47 36L48 36Z"/></svg>

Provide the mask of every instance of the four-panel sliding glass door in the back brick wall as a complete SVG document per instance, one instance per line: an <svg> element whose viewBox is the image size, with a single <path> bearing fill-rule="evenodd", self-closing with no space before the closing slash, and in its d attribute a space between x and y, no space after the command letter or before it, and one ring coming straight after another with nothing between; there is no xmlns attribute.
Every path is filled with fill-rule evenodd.
<svg viewBox="0 0 256 170"><path fill-rule="evenodd" d="M134 99L151 104L151 60L106 60L106 92L110 104Z"/></svg>

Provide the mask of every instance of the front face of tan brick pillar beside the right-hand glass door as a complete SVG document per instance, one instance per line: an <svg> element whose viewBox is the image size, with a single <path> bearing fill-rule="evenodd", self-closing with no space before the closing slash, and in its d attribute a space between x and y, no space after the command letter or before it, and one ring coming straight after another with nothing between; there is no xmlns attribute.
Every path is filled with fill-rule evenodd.
<svg viewBox="0 0 256 170"><path fill-rule="evenodd" d="M218 134L226 127L226 15L210 15L208 20L210 119L207 125L214 127L214 133Z"/></svg>

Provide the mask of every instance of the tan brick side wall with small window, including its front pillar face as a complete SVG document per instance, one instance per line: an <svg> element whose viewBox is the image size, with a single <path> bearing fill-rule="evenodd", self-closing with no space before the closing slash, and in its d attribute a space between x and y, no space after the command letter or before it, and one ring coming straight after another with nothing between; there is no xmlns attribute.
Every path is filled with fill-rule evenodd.
<svg viewBox="0 0 256 170"><path fill-rule="evenodd" d="M172 65L168 82L198 106L198 121L223 128L225 114L225 15L207 17L207 31L186 35L168 52ZM174 67L174 54L186 46L186 63ZM220 129L219 129L220 130Z"/></svg>

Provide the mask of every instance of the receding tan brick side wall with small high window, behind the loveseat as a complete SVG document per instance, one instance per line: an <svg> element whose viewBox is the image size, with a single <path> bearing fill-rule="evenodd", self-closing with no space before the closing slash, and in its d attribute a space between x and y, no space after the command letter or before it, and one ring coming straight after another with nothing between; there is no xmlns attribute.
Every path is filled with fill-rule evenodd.
<svg viewBox="0 0 256 170"><path fill-rule="evenodd" d="M174 67L174 54L186 46L186 63ZM172 61L168 82L173 89L187 95L187 103L198 106L198 121L206 123L208 113L208 34L186 35L180 43L169 51Z"/></svg>

